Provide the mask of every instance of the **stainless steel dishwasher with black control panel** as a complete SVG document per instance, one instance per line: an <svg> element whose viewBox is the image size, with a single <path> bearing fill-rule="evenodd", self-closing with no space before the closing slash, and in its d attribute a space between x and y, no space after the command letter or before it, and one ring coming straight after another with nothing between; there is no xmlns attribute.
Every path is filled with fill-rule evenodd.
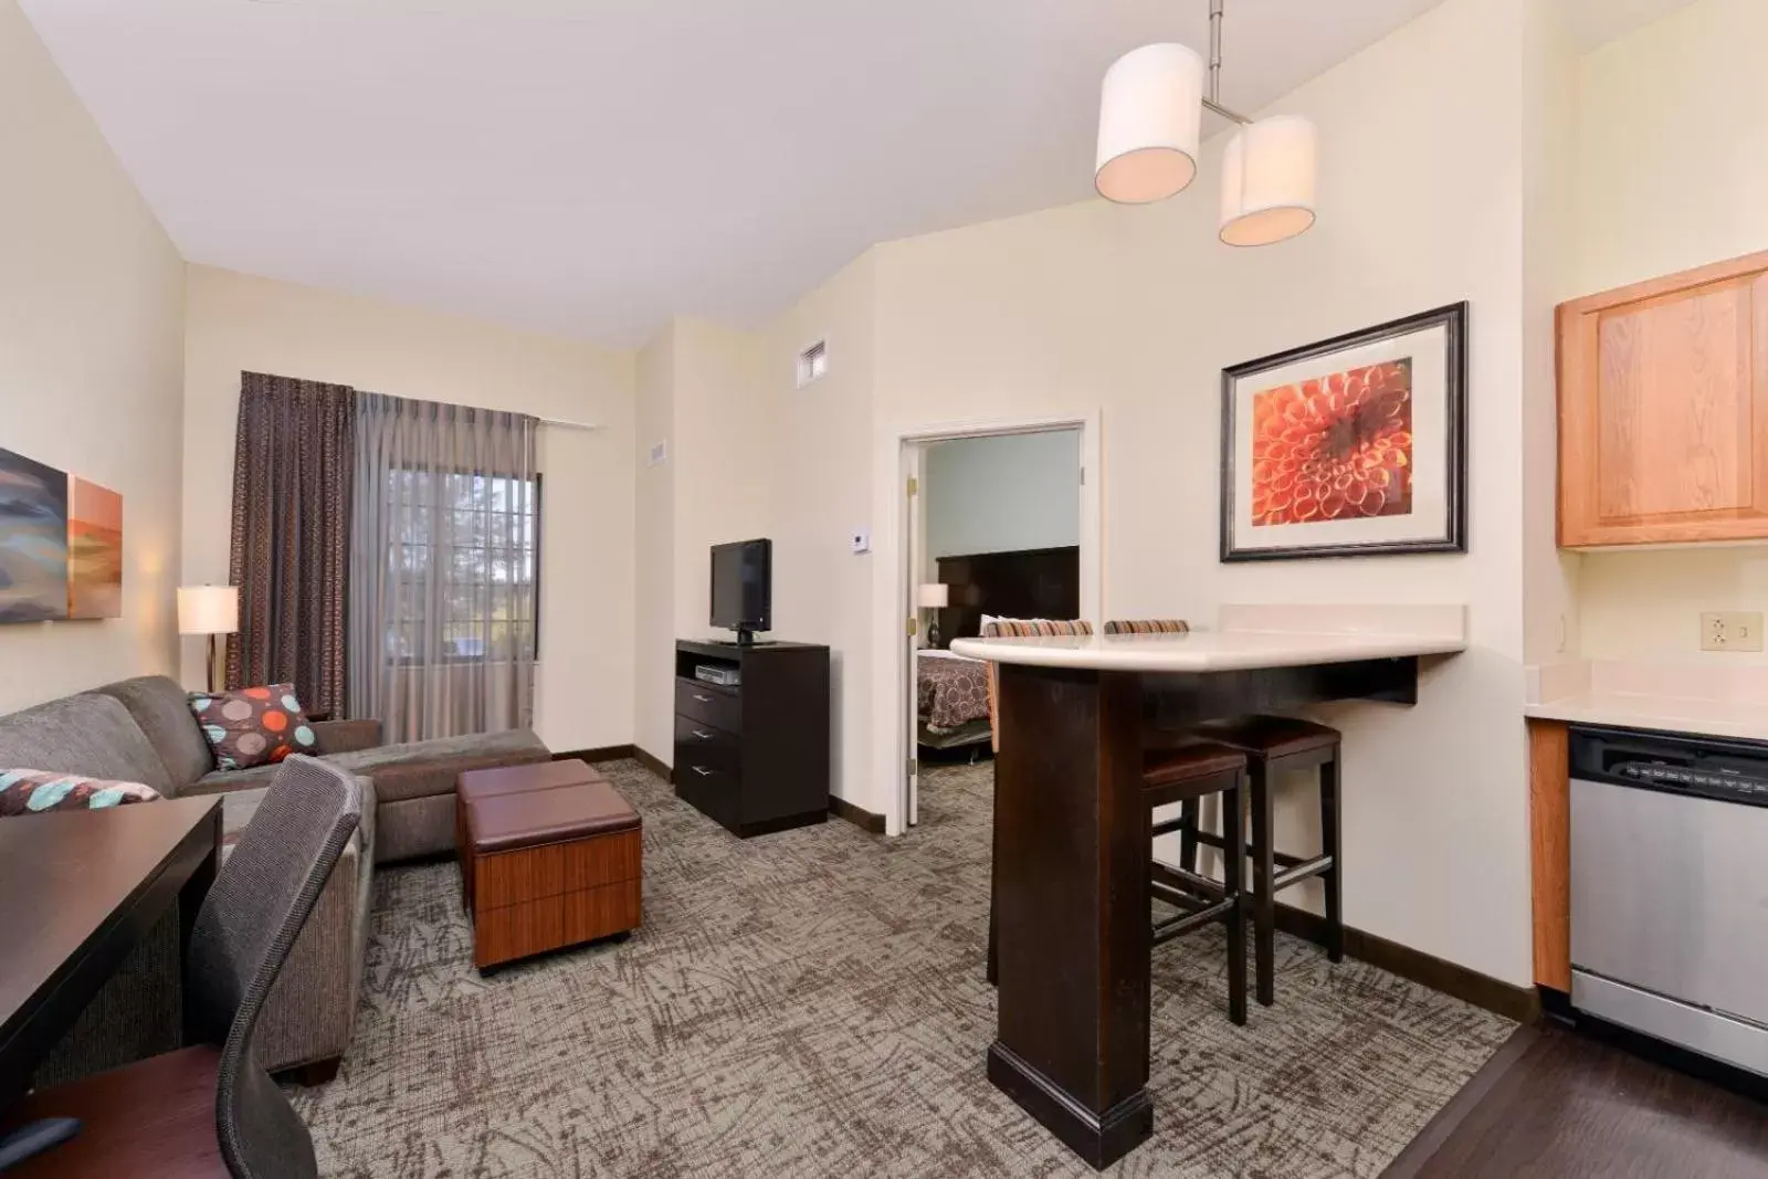
<svg viewBox="0 0 1768 1179"><path fill-rule="evenodd" d="M1572 728L1572 1006L1768 1076L1768 744Z"/></svg>

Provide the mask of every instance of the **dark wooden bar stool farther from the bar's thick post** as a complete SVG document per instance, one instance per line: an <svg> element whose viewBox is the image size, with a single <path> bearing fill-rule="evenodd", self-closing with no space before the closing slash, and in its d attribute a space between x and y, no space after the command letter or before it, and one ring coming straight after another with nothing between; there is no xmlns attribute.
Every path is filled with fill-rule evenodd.
<svg viewBox="0 0 1768 1179"><path fill-rule="evenodd" d="M1337 728L1299 721L1285 716L1245 716L1231 721L1209 721L1197 726L1197 735L1220 742L1246 755L1252 801L1252 928L1257 981L1254 993L1266 1008L1276 999L1276 894L1312 877L1321 877L1326 889L1326 956L1344 962L1344 907L1338 866L1342 863L1342 811L1338 797L1338 762L1344 735ZM1273 838L1271 776L1287 771L1319 767L1321 788L1321 854L1299 859L1278 852ZM1225 824L1223 824L1225 825ZM1220 850L1236 847L1238 840L1223 831L1216 836L1199 825L1199 806L1192 802L1176 822L1181 833L1179 857L1186 870L1197 871L1197 847ZM1223 854L1229 863L1238 856ZM1278 871L1282 868L1282 871Z"/></svg>

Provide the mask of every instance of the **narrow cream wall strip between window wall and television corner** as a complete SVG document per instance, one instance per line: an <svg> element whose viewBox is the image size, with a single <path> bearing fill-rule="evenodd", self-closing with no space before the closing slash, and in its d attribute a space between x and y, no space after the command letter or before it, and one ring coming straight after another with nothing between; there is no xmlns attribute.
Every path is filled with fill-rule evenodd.
<svg viewBox="0 0 1768 1179"><path fill-rule="evenodd" d="M675 325L638 352L633 537L633 742L665 765L675 751ZM661 444L665 458L652 463Z"/></svg>

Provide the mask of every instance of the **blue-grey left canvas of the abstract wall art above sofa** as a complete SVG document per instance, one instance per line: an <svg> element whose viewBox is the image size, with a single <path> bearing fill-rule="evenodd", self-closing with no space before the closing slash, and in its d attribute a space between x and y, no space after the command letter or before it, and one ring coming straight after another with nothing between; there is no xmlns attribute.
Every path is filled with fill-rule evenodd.
<svg viewBox="0 0 1768 1179"><path fill-rule="evenodd" d="M0 451L0 622L67 617L67 472Z"/></svg>

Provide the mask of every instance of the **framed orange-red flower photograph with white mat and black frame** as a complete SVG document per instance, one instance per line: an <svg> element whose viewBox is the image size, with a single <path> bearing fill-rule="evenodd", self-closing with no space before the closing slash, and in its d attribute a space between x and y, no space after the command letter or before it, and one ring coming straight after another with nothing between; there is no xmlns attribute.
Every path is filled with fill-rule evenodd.
<svg viewBox="0 0 1768 1179"><path fill-rule="evenodd" d="M1222 560L1467 551L1467 304L1222 371Z"/></svg>

